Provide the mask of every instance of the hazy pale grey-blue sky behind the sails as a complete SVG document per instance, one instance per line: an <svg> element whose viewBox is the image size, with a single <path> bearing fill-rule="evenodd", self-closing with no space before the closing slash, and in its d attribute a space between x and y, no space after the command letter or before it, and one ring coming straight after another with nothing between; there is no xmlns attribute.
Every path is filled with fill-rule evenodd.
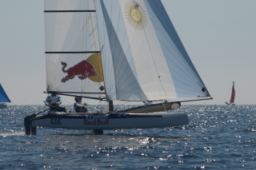
<svg viewBox="0 0 256 170"><path fill-rule="evenodd" d="M255 105L256 0L162 2L214 98L182 105L224 105L230 101L233 81L234 102ZM0 83L10 105L42 105L46 98L43 10L43 0L0 1ZM74 102L73 97L62 100L66 105Z"/></svg>

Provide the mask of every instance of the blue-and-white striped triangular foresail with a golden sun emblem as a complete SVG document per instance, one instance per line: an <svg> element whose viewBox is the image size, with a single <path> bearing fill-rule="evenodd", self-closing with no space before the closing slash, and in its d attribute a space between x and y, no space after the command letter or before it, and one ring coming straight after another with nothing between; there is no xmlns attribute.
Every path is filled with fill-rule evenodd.
<svg viewBox="0 0 256 170"><path fill-rule="evenodd" d="M95 0L106 99L210 97L160 0Z"/></svg>

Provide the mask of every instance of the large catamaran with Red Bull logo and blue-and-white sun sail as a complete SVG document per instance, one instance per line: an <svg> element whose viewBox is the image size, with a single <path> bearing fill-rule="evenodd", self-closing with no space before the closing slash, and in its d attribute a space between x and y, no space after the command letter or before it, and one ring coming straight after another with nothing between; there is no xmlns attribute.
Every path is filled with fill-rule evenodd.
<svg viewBox="0 0 256 170"><path fill-rule="evenodd" d="M106 101L107 113L34 114L34 128L188 125L182 102L211 99L160 0L45 0L46 92ZM153 101L114 110L113 101ZM165 113L162 113L165 112Z"/></svg>

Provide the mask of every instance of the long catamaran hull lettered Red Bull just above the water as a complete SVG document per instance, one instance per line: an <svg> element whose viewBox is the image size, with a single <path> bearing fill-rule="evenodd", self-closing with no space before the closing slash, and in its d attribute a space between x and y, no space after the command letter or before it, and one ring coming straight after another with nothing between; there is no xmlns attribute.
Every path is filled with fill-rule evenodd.
<svg viewBox="0 0 256 170"><path fill-rule="evenodd" d="M70 129L160 128L189 124L186 113L48 113L31 121L32 126Z"/></svg>

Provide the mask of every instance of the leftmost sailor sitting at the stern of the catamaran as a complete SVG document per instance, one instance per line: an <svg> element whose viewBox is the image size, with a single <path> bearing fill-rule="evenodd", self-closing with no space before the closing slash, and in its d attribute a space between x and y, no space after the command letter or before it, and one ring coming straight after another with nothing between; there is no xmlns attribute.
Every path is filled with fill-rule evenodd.
<svg viewBox="0 0 256 170"><path fill-rule="evenodd" d="M46 97L45 104L50 107L50 111L66 113L66 108L59 106L62 104L62 98L56 93L51 93Z"/></svg>

